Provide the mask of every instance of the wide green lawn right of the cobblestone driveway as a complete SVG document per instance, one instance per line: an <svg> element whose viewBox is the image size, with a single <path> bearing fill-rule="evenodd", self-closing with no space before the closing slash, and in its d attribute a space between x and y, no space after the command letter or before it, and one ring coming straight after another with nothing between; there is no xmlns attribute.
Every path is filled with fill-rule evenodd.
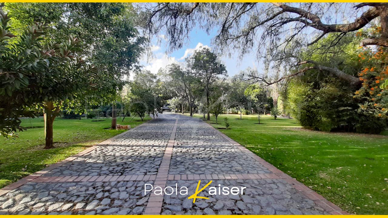
<svg viewBox="0 0 388 218"><path fill-rule="evenodd" d="M202 115L195 115L202 117ZM357 214L388 214L388 137L326 133L301 128L295 119L256 115L227 116L220 130L342 209ZM215 118L211 117L214 123ZM384 132L386 134L386 131Z"/></svg>

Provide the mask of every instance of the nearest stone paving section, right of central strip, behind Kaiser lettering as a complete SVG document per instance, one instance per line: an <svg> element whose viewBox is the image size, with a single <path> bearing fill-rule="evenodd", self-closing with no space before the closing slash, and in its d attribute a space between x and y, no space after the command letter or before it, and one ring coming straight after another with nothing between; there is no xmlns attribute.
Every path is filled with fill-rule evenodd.
<svg viewBox="0 0 388 218"><path fill-rule="evenodd" d="M201 180L203 187L210 180ZM262 180L213 180L198 196L209 199L192 199L187 197L194 194L197 181L178 180L168 181L166 186L185 186L188 195L164 196L162 215L324 215L329 214L315 205L314 201L298 193L291 185L281 179ZM210 195L211 186L218 187L246 187L244 194L238 195ZM178 190L179 191L179 190ZM170 193L168 193L170 194Z"/></svg>

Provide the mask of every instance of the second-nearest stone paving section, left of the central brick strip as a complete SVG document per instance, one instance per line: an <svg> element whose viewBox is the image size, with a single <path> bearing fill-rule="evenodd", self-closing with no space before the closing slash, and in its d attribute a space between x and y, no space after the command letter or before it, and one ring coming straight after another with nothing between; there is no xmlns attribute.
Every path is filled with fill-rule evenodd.
<svg viewBox="0 0 388 218"><path fill-rule="evenodd" d="M155 175L165 147L165 145L101 146L46 175Z"/></svg>

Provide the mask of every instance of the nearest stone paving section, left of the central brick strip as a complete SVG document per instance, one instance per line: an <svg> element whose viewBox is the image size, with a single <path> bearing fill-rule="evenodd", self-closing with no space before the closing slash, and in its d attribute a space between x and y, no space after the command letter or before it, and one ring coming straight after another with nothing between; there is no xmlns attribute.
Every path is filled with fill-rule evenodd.
<svg viewBox="0 0 388 218"><path fill-rule="evenodd" d="M149 194L143 181L34 183L0 197L0 214L11 215L136 215ZM153 183L148 181L147 183ZM7 203L8 202L8 203Z"/></svg>

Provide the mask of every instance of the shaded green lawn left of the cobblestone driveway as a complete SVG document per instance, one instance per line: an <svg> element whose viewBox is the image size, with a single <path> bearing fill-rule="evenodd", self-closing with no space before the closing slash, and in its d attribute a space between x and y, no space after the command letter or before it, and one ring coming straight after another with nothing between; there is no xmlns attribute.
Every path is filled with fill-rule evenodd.
<svg viewBox="0 0 388 218"><path fill-rule="evenodd" d="M140 118L126 117L124 122L118 117L117 123L135 127L143 123ZM145 121L150 119L148 116ZM107 138L125 130L109 130L111 118L101 119L63 119L54 121L54 149L43 149L45 143L43 118L23 119L26 131L19 133L16 140L0 138L0 188L42 170L47 164L54 164L77 154ZM33 128L31 128L31 126Z"/></svg>

